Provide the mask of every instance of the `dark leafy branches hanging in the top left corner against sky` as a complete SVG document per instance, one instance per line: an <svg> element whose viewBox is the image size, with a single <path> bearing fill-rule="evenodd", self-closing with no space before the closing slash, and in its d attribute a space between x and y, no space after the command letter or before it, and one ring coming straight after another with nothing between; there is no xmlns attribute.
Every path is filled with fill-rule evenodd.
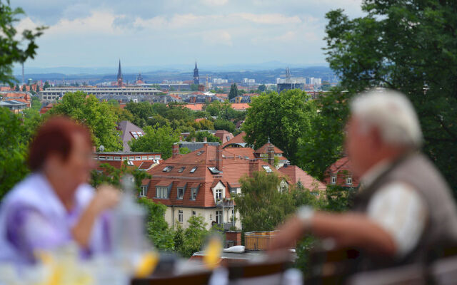
<svg viewBox="0 0 457 285"><path fill-rule="evenodd" d="M46 28L25 29L19 38L14 25L23 14L21 8L11 9L8 0L0 2L0 83L16 82L12 75L14 63L24 63L28 58L35 57L38 48L36 39Z"/></svg>

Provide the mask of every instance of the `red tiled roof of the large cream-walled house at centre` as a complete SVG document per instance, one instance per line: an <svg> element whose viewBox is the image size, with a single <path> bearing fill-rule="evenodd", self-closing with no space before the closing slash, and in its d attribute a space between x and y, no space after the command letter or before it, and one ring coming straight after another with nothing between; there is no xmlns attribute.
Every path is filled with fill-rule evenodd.
<svg viewBox="0 0 457 285"><path fill-rule="evenodd" d="M171 157L161 163L161 167L154 167L148 170L151 174L151 182L147 197L155 202L161 202L165 205L186 206L186 207L216 207L214 201L214 193L211 187L222 182L226 186L225 197L230 196L229 185L239 185L239 180L243 175L253 175L254 171L265 171L263 165L268 165L260 159L253 159L253 149L238 148L238 149L223 149L222 150L222 172L212 174L208 167L216 167L216 146L205 145L199 150L178 157ZM248 157L246 159L246 157ZM166 166L174 166L170 172L164 172ZM283 174L278 172L273 166L268 165L273 172L276 172L281 177ZM182 167L184 171L179 172ZM197 167L194 173L191 169ZM164 182L166 181L166 182ZM171 192L168 199L156 198L156 186L165 183L174 182L171 186ZM199 185L199 192L196 199L191 199L191 191L185 190L183 199L177 199L176 183L187 182L188 186ZM228 184L227 184L228 183ZM169 185L169 184L168 184ZM166 186L168 186L166 185ZM189 187L187 187L189 189Z"/></svg>

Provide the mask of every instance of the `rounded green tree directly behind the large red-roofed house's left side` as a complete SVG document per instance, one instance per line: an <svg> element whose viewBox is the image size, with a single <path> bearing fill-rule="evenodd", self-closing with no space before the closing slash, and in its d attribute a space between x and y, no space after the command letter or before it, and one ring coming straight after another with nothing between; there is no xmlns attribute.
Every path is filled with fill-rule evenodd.
<svg viewBox="0 0 457 285"><path fill-rule="evenodd" d="M138 140L129 142L131 151L134 152L161 152L164 160L171 157L172 147L179 142L179 132L173 130L170 125L160 127L147 125L144 129L144 136Z"/></svg>

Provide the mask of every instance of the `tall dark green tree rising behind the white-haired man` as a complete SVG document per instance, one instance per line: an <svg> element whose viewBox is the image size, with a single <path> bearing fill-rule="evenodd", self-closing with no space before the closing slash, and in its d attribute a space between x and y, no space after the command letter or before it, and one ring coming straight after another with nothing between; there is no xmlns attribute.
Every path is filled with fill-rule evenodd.
<svg viewBox="0 0 457 285"><path fill-rule="evenodd" d="M457 194L455 1L364 1L366 16L326 14L326 55L341 86L401 90L421 121L423 150Z"/></svg>

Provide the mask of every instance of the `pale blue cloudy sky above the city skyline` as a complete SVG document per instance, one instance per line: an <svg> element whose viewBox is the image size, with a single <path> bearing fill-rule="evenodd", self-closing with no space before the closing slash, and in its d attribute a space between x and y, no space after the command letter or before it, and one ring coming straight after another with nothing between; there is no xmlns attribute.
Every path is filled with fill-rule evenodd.
<svg viewBox="0 0 457 285"><path fill-rule="evenodd" d="M361 0L11 0L18 30L46 25L26 66L326 65L326 12Z"/></svg>

